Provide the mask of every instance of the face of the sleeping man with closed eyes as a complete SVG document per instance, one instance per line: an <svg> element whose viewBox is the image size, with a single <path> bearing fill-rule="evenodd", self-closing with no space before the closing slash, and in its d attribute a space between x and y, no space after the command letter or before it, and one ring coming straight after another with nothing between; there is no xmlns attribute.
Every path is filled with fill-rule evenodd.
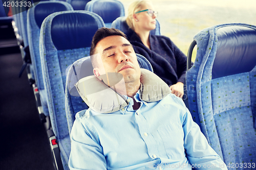
<svg viewBox="0 0 256 170"><path fill-rule="evenodd" d="M140 66L131 43L122 36L109 36L96 45L105 72L118 72L125 83L140 79Z"/></svg>

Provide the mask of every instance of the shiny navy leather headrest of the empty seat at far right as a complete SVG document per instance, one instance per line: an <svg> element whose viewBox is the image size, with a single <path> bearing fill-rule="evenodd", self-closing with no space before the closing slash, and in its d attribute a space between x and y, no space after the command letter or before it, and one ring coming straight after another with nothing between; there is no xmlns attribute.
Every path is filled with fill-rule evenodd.
<svg viewBox="0 0 256 170"><path fill-rule="evenodd" d="M251 71L256 65L256 30L242 26L219 28L212 79Z"/></svg>

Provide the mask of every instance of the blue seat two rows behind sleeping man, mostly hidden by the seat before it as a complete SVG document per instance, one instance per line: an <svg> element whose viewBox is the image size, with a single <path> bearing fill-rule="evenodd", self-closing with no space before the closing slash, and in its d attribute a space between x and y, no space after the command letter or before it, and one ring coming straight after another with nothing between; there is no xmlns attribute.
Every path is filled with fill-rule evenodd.
<svg viewBox="0 0 256 170"><path fill-rule="evenodd" d="M58 11L67 11L73 10L71 5L66 2L57 2L57 1L46 1L40 2L35 7L28 10L27 14L27 33L28 33L28 42L29 42L29 51L31 56L31 62L34 72L34 78L38 91L40 94L40 100L44 114L49 115L48 106L46 102L46 92L44 91L44 81L42 80L42 69L39 53L39 36L40 36L40 27L42 21L50 14ZM23 15L23 13L22 13Z"/></svg>

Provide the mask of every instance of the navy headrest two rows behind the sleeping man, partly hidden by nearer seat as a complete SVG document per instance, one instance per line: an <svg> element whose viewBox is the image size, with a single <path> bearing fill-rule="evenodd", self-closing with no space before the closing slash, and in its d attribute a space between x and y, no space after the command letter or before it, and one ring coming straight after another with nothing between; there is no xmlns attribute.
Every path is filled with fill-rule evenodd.
<svg viewBox="0 0 256 170"><path fill-rule="evenodd" d="M36 24L39 28L41 28L42 25L42 21L44 21L44 19L54 13L54 12L60 12L60 11L68 11L68 10L72 10L72 7L67 4L66 2L65 4L63 2L42 2L37 4L34 7L34 15L35 15L35 21Z"/></svg>

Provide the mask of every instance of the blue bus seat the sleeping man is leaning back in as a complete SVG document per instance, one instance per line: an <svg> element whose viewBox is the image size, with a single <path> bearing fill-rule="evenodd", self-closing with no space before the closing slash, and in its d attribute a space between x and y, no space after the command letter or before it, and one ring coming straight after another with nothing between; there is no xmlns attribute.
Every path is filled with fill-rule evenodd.
<svg viewBox="0 0 256 170"><path fill-rule="evenodd" d="M147 70L150 70L153 72L153 68L150 64L150 62L143 56L136 54L137 59L140 65L140 68L145 68ZM86 68L86 71L82 72L77 72L77 70L80 70L80 68ZM78 76L76 78L74 75L75 74ZM67 114L67 120L68 120L68 126L69 126L69 133L71 133L71 129L73 127L74 121L75 121L75 115L77 112L88 109L89 107L87 106L86 103L82 100L80 97L79 93L77 92L74 84L88 76L93 76L93 66L91 63L90 57L84 57L82 59L79 59L75 61L69 69L66 70L66 75L67 75L67 81L66 81L66 96L65 96L65 103L66 103L66 114Z"/></svg>

